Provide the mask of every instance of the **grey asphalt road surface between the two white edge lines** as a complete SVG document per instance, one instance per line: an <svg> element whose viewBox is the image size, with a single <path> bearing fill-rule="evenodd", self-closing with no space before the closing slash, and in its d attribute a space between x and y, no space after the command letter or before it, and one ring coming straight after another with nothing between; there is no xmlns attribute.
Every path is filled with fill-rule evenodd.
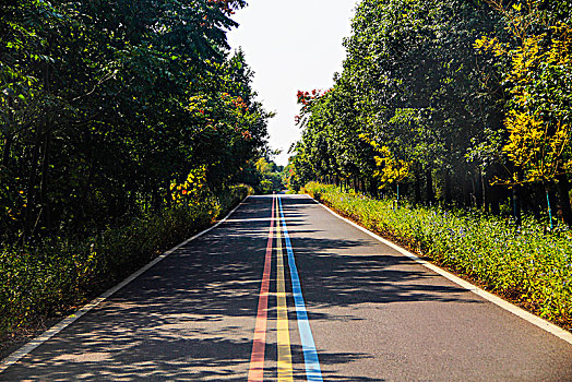
<svg viewBox="0 0 572 382"><path fill-rule="evenodd" d="M254 196L0 380L247 381L257 326L265 327L264 380L277 380L281 369L283 380L289 373L305 381L311 349L300 324L303 295L324 381L572 381L569 343L427 270L308 196L281 199L296 272L284 228L281 246L273 229L267 310L259 309L259 295L273 198ZM293 294L296 275L301 295L296 283Z"/></svg>

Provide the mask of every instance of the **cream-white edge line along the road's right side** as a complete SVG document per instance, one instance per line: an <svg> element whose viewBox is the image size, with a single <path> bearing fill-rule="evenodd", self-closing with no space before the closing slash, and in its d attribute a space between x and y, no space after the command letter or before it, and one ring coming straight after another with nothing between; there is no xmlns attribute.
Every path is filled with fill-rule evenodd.
<svg viewBox="0 0 572 382"><path fill-rule="evenodd" d="M378 241L381 241L383 242L384 244L393 248L394 250L401 252L402 254L406 255L407 258L416 261L417 263L424 265L425 267L438 273L439 275L450 279L451 282L457 284L458 286L467 289L467 290L470 290L472 293L474 293L475 295L477 296L480 296L482 297L484 299L494 303L496 306L520 317L521 319L525 320L525 321L528 321L529 323L532 323L533 325L536 325L545 331L547 331L548 333L550 334L553 334L556 335L557 337L559 337L560 339L563 339L567 343L571 344L572 345L572 333L563 330L562 327L560 326L557 326L555 325L553 323L551 322L548 322L541 318L539 318L538 315L535 315L531 312L527 312L526 310L522 309L522 308L519 308L505 300L503 300L502 298L496 296L496 295L492 295L466 280L464 280L463 278L461 277L457 277L455 275L453 275L452 273L449 273L442 268L440 268L439 266L434 265L434 264L431 264L425 260L421 260L419 259L417 255L415 255L414 253L401 248L400 246L382 238L381 236L379 235L376 235L373 234L372 231L361 227L360 225L341 216L339 214L337 214L336 212L334 212L333 210L329 208L327 206L325 206L324 204L318 202L315 199L313 199L312 196L308 195L308 198L311 198L312 200L314 200L319 205L321 205L322 207L324 207L326 211L329 211L331 214L337 216L338 218L341 218L342 220L353 225L354 227L356 227L357 229L368 234L369 236L371 236L372 238L374 238L376 240Z"/></svg>

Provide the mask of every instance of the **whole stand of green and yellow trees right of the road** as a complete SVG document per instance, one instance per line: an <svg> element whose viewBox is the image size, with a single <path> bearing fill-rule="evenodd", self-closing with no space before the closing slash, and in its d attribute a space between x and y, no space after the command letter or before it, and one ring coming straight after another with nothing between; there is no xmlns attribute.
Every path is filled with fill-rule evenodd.
<svg viewBox="0 0 572 382"><path fill-rule="evenodd" d="M290 187L572 223L571 1L362 0L345 47L298 92Z"/></svg>

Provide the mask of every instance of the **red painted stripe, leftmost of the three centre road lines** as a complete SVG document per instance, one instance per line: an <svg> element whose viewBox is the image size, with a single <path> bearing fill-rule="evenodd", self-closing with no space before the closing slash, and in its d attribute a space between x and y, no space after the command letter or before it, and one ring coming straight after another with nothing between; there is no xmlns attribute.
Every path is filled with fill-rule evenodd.
<svg viewBox="0 0 572 382"><path fill-rule="evenodd" d="M264 379L264 349L266 347L266 322L269 317L269 288L272 265L272 243L274 232L274 202L272 198L272 218L270 223L269 241L264 260L264 273L259 295L259 310L257 324L254 326L254 341L252 343L252 355L250 356L250 368L248 370L248 382L262 382Z"/></svg>

